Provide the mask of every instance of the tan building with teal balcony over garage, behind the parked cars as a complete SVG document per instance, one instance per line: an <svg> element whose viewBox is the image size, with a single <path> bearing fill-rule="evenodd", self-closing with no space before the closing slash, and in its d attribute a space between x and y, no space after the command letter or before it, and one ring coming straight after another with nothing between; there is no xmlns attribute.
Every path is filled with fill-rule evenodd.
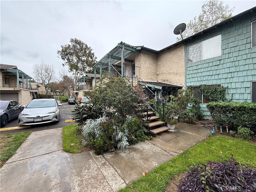
<svg viewBox="0 0 256 192"><path fill-rule="evenodd" d="M32 77L28 76L17 66L0 65L0 99L16 100L26 105L38 96L38 85L32 84Z"/></svg>

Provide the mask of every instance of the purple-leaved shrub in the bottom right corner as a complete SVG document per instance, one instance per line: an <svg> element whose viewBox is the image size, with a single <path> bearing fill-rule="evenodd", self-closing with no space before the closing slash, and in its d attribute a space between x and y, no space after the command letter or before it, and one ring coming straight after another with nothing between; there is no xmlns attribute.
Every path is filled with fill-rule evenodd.
<svg viewBox="0 0 256 192"><path fill-rule="evenodd" d="M256 170L233 158L190 167L178 184L178 192L256 191Z"/></svg>

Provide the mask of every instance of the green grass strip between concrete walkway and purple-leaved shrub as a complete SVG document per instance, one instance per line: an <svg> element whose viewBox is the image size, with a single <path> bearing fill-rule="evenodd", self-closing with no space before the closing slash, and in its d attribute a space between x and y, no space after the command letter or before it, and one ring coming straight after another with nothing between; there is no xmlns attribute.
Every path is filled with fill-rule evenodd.
<svg viewBox="0 0 256 192"><path fill-rule="evenodd" d="M222 162L234 154L237 162L246 166L256 167L256 145L239 138L229 136L210 136L196 146L172 158L154 170L121 189L120 192L162 192L169 180L183 172L189 166L207 163L209 161Z"/></svg>

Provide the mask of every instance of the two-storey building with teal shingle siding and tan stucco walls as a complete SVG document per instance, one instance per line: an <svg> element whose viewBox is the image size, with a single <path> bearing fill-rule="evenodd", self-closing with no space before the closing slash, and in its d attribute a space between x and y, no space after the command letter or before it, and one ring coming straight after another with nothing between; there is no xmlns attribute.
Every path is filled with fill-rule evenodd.
<svg viewBox="0 0 256 192"><path fill-rule="evenodd" d="M107 71L149 87L147 95L218 84L228 99L256 102L256 7L159 51L120 42L94 68L100 78ZM197 96L208 116L207 100Z"/></svg>

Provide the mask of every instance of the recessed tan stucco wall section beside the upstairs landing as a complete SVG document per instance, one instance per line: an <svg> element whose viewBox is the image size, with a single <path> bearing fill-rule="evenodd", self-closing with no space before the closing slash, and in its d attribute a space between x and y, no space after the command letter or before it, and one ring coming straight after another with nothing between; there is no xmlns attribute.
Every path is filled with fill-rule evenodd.
<svg viewBox="0 0 256 192"><path fill-rule="evenodd" d="M156 54L141 51L135 55L135 65L140 67L141 80L157 80L157 56Z"/></svg>

